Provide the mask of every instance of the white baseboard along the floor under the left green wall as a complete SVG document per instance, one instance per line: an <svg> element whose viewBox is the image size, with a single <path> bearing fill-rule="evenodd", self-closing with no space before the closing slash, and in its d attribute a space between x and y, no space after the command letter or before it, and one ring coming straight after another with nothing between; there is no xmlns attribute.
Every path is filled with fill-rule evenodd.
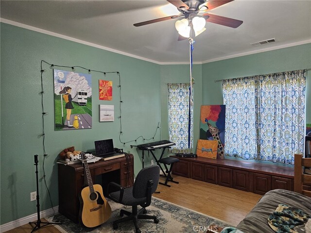
<svg viewBox="0 0 311 233"><path fill-rule="evenodd" d="M58 213L58 206L55 206L53 208L54 208L55 214ZM53 209L52 208L47 209L47 210L43 210L43 211L40 211L40 218L47 217L47 216L52 216L52 214L53 214ZM0 226L0 232L6 232L6 231L9 231L9 230L12 230L14 228L17 228L17 227L20 227L22 225L25 225L25 224L27 224L29 222L35 222L36 220L38 220L38 216L37 215L38 214L35 213L35 214L29 215L29 216L25 216L25 217L19 218L17 220L12 221L12 222L5 223L5 224ZM35 225L34 225L34 227L35 227Z"/></svg>

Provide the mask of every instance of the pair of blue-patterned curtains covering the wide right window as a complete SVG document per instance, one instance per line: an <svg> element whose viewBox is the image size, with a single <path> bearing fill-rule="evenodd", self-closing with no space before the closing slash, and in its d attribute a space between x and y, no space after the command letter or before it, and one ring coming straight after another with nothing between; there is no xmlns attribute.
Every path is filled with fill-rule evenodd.
<svg viewBox="0 0 311 233"><path fill-rule="evenodd" d="M303 152L305 86L304 70L225 80L225 154L294 164Z"/></svg>

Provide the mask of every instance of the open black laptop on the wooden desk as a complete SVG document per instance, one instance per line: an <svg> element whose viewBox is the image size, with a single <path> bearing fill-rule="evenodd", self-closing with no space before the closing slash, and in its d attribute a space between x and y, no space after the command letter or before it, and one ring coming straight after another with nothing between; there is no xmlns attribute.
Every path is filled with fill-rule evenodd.
<svg viewBox="0 0 311 233"><path fill-rule="evenodd" d="M95 141L95 152L97 157L101 157L104 160L115 159L124 156L122 153L114 152L112 139Z"/></svg>

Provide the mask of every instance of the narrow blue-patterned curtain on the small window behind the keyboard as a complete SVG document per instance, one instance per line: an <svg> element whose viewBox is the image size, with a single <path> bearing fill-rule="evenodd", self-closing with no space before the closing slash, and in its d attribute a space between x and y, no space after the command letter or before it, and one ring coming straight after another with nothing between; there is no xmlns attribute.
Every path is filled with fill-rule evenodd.
<svg viewBox="0 0 311 233"><path fill-rule="evenodd" d="M169 140L176 144L171 153L192 152L193 107L189 104L189 87L189 83L168 83Z"/></svg>

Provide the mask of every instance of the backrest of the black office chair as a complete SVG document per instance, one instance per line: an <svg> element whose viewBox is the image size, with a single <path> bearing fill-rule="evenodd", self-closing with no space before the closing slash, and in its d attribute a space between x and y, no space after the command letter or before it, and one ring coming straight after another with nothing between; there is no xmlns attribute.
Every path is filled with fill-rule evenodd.
<svg viewBox="0 0 311 233"><path fill-rule="evenodd" d="M133 186L134 198L145 198L147 196L148 182L153 181L151 193L154 193L159 183L160 168L157 165L142 168L136 176Z"/></svg>

